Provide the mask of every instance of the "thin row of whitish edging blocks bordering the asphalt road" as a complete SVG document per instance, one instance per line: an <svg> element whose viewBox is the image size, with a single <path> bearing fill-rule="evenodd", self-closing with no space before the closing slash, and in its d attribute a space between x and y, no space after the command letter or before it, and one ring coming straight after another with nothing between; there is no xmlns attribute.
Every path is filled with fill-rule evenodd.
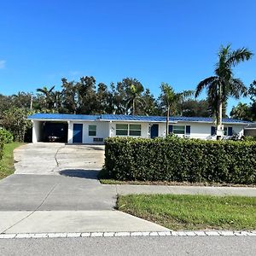
<svg viewBox="0 0 256 256"><path fill-rule="evenodd" d="M159 232L74 232L74 233L19 233L0 234L0 239L19 238L77 238L77 237L121 237L121 236L256 236L253 231L159 231Z"/></svg>

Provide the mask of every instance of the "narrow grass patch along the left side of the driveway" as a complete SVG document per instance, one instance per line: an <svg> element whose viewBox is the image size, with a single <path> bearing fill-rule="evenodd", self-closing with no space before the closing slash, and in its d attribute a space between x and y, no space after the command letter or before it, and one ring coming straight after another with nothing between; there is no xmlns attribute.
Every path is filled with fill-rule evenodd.
<svg viewBox="0 0 256 256"><path fill-rule="evenodd" d="M3 147L3 159L0 160L0 179L7 177L15 172L14 149L25 143L9 143Z"/></svg>

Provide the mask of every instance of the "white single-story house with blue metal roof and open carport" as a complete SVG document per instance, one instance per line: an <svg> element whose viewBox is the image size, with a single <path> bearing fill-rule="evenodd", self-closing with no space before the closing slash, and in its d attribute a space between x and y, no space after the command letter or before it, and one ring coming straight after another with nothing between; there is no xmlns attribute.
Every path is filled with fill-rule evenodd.
<svg viewBox="0 0 256 256"><path fill-rule="evenodd" d="M119 114L35 113L32 120L32 142L62 142L100 144L107 137L165 137L165 116ZM243 135L250 122L223 119L224 136ZM212 118L170 117L169 133L181 137L213 139L216 129Z"/></svg>

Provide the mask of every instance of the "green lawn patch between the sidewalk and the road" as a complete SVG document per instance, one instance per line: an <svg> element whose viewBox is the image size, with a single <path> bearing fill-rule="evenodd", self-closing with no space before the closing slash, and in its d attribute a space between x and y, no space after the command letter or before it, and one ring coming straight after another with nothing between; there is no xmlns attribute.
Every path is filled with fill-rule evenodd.
<svg viewBox="0 0 256 256"><path fill-rule="evenodd" d="M256 197L123 195L117 208L171 230L256 230Z"/></svg>

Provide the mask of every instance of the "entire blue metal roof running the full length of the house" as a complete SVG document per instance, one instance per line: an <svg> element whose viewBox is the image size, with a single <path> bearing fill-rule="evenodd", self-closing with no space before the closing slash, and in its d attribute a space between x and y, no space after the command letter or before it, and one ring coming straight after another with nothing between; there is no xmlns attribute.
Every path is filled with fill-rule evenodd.
<svg viewBox="0 0 256 256"><path fill-rule="evenodd" d="M71 113L34 113L27 119L61 119L61 120L105 120L105 121L142 121L142 122L166 122L165 116L146 116L146 115L125 115L125 114L102 114L86 115ZM170 122L203 122L213 123L214 119L206 117L184 117L171 116ZM223 123L251 124L252 122L239 119L223 119Z"/></svg>

